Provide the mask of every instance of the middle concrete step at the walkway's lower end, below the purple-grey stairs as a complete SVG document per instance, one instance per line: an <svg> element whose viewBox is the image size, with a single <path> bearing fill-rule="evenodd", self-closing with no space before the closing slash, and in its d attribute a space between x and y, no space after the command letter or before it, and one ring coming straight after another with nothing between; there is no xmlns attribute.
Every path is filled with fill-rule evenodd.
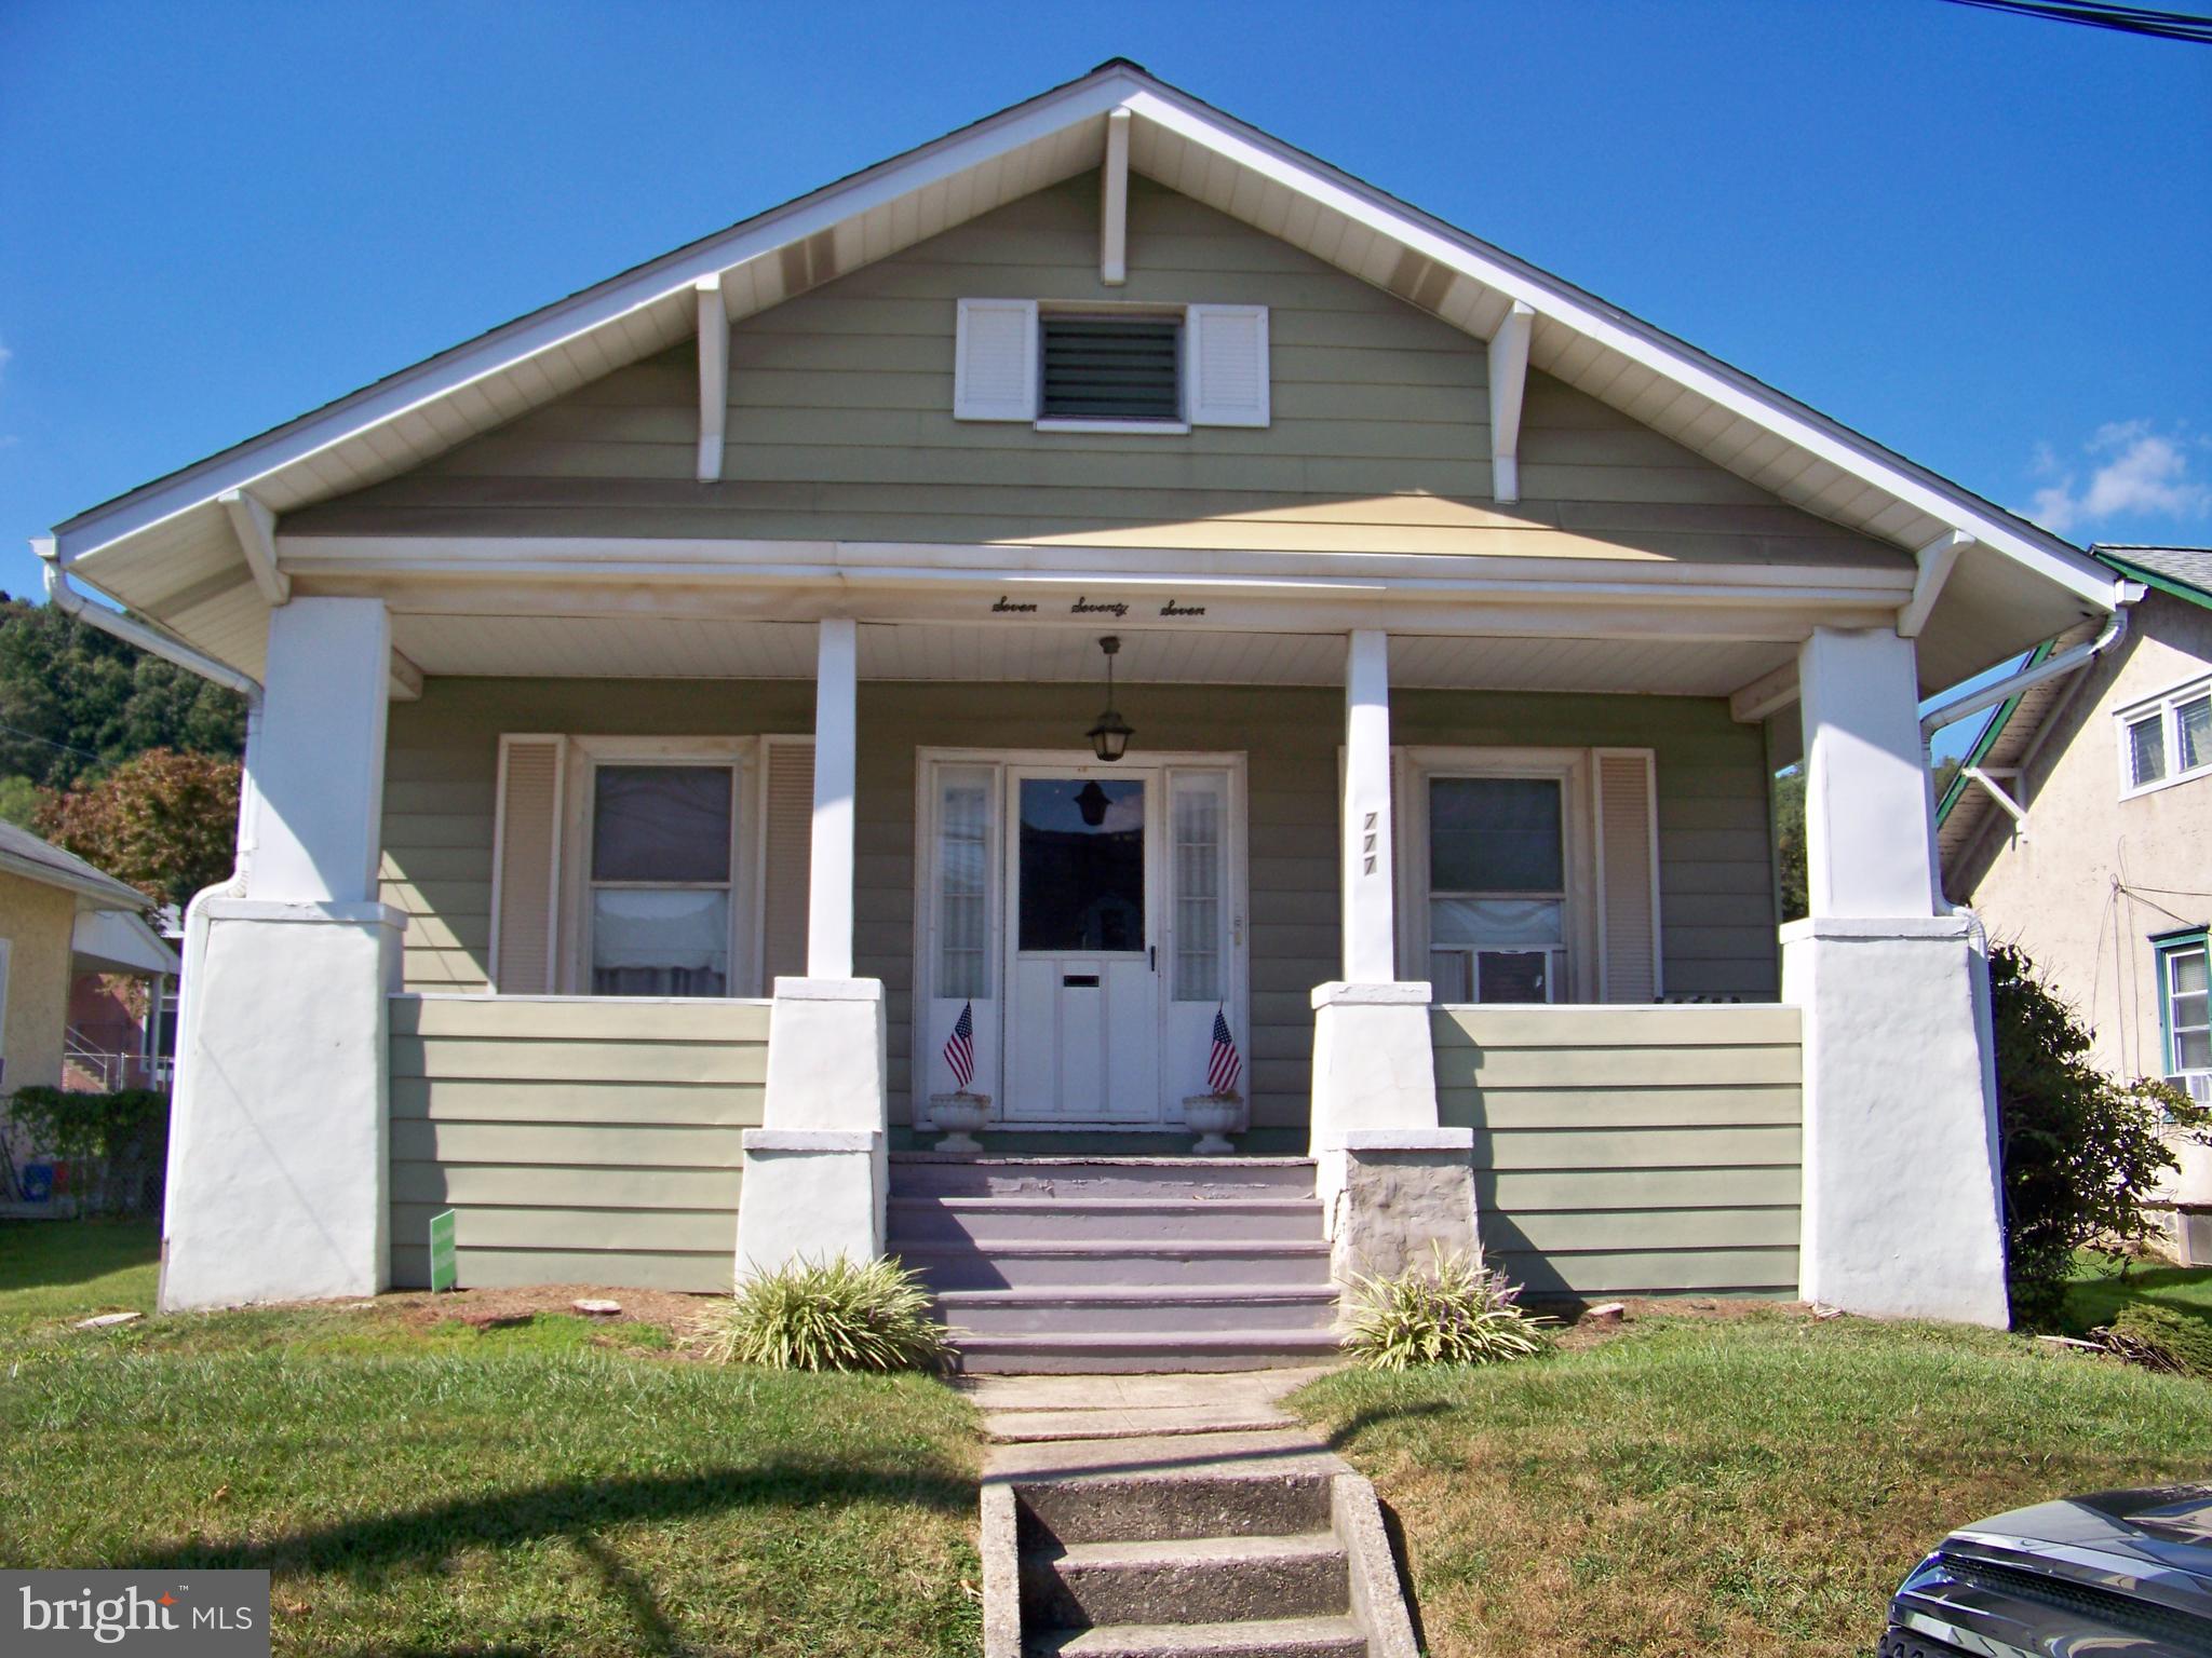
<svg viewBox="0 0 2212 1658"><path fill-rule="evenodd" d="M1323 1618L1349 1605L1334 1532L1053 1543L1022 1556L1033 1627Z"/></svg>

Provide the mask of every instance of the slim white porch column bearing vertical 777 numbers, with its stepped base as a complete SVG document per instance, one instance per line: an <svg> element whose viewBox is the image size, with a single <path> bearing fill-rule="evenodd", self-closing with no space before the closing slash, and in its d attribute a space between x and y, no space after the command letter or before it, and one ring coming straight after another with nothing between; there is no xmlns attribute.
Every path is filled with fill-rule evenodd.
<svg viewBox="0 0 2212 1658"><path fill-rule="evenodd" d="M1436 1114L1429 984L1398 979L1389 634L1345 650L1343 979L1314 988L1312 1154L1338 1280L1475 1242L1473 1132Z"/></svg>

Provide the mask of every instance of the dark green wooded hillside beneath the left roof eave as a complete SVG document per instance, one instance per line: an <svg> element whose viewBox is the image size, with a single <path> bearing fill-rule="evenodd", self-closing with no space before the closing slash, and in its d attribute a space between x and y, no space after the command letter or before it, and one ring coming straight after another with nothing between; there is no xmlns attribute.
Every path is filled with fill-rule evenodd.
<svg viewBox="0 0 2212 1658"><path fill-rule="evenodd" d="M246 701L53 606L0 595L0 778L69 789L155 747L234 760Z"/></svg>

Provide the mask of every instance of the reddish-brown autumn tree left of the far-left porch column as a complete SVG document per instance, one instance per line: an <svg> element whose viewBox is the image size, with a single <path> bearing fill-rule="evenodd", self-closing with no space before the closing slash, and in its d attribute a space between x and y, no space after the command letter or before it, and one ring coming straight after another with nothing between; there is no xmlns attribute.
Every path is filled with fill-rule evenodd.
<svg viewBox="0 0 2212 1658"><path fill-rule="evenodd" d="M137 886L148 904L186 904L230 878L239 829L239 763L148 749L84 787L49 791L38 831Z"/></svg>

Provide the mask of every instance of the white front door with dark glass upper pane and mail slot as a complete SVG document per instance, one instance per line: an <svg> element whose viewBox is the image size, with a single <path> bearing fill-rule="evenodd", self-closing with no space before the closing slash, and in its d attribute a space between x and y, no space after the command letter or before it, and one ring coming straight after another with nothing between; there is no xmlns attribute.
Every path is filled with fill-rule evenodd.
<svg viewBox="0 0 2212 1658"><path fill-rule="evenodd" d="M1161 778L1006 769L1006 1114L1159 1121Z"/></svg>

